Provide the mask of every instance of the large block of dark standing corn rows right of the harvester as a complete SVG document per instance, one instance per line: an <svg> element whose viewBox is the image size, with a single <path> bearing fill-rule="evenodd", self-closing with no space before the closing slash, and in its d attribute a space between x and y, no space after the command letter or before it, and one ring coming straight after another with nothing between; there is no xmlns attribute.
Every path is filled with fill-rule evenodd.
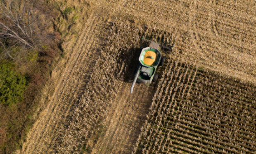
<svg viewBox="0 0 256 154"><path fill-rule="evenodd" d="M168 65L172 74L163 74L134 153L255 154L256 87L186 64Z"/></svg>

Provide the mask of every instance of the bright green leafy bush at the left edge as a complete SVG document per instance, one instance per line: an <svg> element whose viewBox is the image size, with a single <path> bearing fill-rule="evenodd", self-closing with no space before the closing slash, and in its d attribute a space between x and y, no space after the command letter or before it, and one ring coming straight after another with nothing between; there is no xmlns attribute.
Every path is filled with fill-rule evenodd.
<svg viewBox="0 0 256 154"><path fill-rule="evenodd" d="M12 105L23 101L26 79L11 70L10 65L0 66L0 103Z"/></svg>

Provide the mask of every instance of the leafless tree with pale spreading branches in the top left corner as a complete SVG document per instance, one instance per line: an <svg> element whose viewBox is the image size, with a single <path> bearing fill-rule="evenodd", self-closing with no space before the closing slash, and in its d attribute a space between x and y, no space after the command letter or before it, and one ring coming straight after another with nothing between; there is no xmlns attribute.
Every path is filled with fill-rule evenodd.
<svg viewBox="0 0 256 154"><path fill-rule="evenodd" d="M49 12L45 12L48 8L42 4L43 0L0 0L0 41L14 59L19 55L14 54L13 47L36 48L40 52L41 43L51 43L45 31ZM32 50L19 50L19 53L23 56Z"/></svg>

